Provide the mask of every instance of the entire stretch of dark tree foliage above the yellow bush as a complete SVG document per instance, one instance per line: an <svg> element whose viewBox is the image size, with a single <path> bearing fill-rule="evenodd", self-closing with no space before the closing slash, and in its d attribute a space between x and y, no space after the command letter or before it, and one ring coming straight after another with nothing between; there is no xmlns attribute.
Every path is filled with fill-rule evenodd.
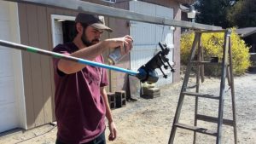
<svg viewBox="0 0 256 144"><path fill-rule="evenodd" d="M195 9L201 12L195 21L202 24L222 26L256 26L255 0L197 0Z"/></svg>

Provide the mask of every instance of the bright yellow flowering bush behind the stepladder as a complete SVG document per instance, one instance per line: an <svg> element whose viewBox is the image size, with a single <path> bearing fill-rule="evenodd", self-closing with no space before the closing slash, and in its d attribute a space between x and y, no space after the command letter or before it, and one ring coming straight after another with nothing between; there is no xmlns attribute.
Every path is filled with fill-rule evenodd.
<svg viewBox="0 0 256 144"><path fill-rule="evenodd" d="M247 68L251 65L249 47L246 43L237 35L235 28L231 33L231 49L232 49L232 63L233 72L236 75L241 75L247 72ZM181 63L187 65L190 49L195 37L195 32L184 33L181 37ZM203 33L201 37L201 45L204 49L204 59L209 60L210 57L218 57L218 61L223 57L223 45L224 45L224 32L219 33ZM197 51L196 53L197 54ZM220 66L205 66L206 75L219 76L221 74Z"/></svg>

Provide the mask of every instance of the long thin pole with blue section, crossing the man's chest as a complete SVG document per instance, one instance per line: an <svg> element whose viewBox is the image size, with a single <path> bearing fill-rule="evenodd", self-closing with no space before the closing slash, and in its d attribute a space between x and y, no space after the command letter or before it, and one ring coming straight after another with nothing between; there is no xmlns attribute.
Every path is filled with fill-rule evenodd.
<svg viewBox="0 0 256 144"><path fill-rule="evenodd" d="M20 49L20 50L26 50L26 51L32 52L32 53L38 53L38 54L41 54L41 55L48 55L48 56L52 56L52 57L55 57L55 58L58 58L58 59L72 60L74 62L78 62L78 63L85 64L85 65L107 68L109 70L113 70L113 71L117 71L117 72L125 72L127 74L132 75L132 76L137 76L137 75L142 75L143 74L141 72L134 72L134 71L127 70L127 69L117 67L117 66L108 66L108 65L98 63L98 62L95 62L95 61L84 60L84 59L81 59L81 58L68 56L68 55L62 55L62 54L59 54L59 53L51 52L51 51L44 50L44 49L38 49L38 48L35 48L35 47L31 47L31 46L27 46L27 45L23 45L23 44L19 44L19 43L12 43L12 42L8 42L8 41L0 40L0 45L5 46L5 47L9 47L9 48L12 48L12 49Z"/></svg>

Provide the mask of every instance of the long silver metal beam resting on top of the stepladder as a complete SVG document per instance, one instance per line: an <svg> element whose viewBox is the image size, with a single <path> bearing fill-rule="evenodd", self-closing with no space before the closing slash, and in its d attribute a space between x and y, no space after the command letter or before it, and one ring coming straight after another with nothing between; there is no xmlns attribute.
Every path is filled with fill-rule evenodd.
<svg viewBox="0 0 256 144"><path fill-rule="evenodd" d="M201 30L222 30L220 26L210 26L199 24L195 22L183 21L183 20L172 20L165 17L155 17L148 14L141 14L132 12L125 9L116 9L96 3L89 3L80 0L5 0L9 2L17 3L31 3L36 5L44 5L48 7L55 7L60 9L71 9L78 12L88 12L94 14L102 14L125 20L136 20L141 22L166 25L166 26L177 26L187 27L191 29Z"/></svg>

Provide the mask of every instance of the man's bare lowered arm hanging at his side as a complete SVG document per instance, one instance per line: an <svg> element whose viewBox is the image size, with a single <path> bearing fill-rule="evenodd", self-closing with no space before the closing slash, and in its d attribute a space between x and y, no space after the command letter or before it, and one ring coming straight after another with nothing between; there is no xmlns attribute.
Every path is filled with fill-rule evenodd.
<svg viewBox="0 0 256 144"><path fill-rule="evenodd" d="M109 126L109 131L110 131L110 134L108 135L108 140L113 141L116 139L117 130L116 130L115 124L113 123L113 117L112 117L112 113L111 113L111 110L110 110L110 107L108 104L108 95L107 95L107 91L106 91L105 87L101 87L101 94L103 96L103 100L106 105L106 117L108 118L108 126Z"/></svg>

